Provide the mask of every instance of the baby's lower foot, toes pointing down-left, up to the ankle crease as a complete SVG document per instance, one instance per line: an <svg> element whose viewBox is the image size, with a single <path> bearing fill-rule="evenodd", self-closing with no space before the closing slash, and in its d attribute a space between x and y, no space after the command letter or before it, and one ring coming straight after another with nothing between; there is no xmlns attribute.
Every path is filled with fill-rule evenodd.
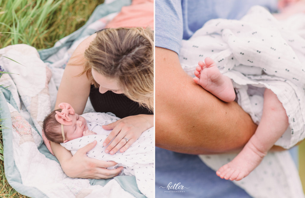
<svg viewBox="0 0 305 198"><path fill-rule="evenodd" d="M242 149L242 151L228 164L223 165L216 171L221 179L230 179L231 181L239 181L249 175L251 171L256 168L263 160L266 153L258 151L255 147L249 145Z"/></svg>

